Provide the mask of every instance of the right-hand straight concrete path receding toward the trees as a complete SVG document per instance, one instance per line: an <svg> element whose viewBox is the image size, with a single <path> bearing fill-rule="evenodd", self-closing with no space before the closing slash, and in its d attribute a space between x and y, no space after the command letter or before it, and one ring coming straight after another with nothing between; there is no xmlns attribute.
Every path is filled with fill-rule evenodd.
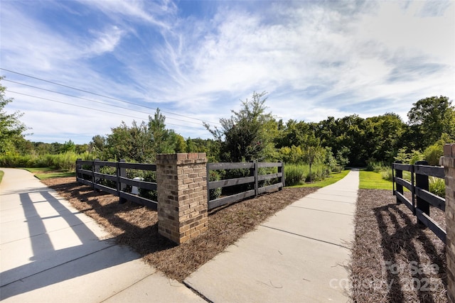
<svg viewBox="0 0 455 303"><path fill-rule="evenodd" d="M359 172L287 206L184 282L213 302L348 302Z"/></svg>

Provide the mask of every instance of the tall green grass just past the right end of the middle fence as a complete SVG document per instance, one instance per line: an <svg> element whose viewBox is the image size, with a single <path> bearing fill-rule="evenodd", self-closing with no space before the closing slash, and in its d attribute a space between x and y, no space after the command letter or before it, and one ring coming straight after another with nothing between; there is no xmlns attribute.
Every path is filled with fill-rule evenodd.
<svg viewBox="0 0 455 303"><path fill-rule="evenodd" d="M284 165L284 177L287 186L304 184L305 182L324 180L331 174L330 167L326 165L287 164ZM311 178L310 178L311 177Z"/></svg>

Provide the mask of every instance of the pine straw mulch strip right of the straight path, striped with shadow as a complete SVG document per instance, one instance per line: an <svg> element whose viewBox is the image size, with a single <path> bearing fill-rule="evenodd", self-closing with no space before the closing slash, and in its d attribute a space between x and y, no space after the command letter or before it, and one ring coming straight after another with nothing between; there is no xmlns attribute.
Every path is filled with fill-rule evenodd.
<svg viewBox="0 0 455 303"><path fill-rule="evenodd" d="M445 245L391 190L360 189L349 269L353 302L447 302Z"/></svg>

